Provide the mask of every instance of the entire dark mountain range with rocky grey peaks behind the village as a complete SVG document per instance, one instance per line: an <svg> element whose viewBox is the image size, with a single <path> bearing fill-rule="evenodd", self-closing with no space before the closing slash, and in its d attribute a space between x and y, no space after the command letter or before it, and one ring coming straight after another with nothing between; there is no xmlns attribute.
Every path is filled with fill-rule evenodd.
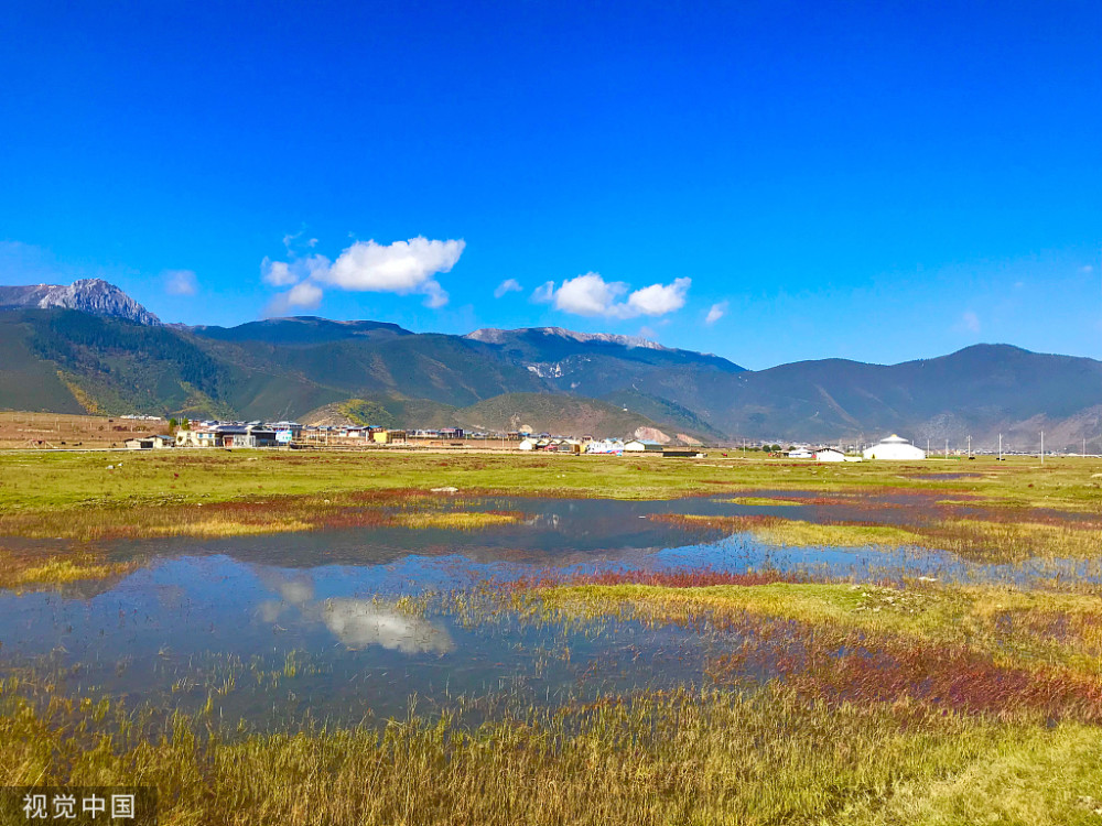
<svg viewBox="0 0 1102 826"><path fill-rule="evenodd" d="M823 359L750 371L719 356L559 327L417 334L272 318L162 324L99 280L0 286L0 409L299 417L725 441L900 433L1102 449L1102 362L976 345L899 365ZM386 420L386 421L383 421ZM542 424L541 424L542 423ZM606 430L603 430L606 428ZM649 431L647 431L649 432Z"/></svg>

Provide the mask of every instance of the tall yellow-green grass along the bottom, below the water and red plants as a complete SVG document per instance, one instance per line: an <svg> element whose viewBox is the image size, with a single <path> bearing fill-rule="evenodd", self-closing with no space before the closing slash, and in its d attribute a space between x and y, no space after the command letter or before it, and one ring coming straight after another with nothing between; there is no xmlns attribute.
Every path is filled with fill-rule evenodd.
<svg viewBox="0 0 1102 826"><path fill-rule="evenodd" d="M0 783L153 784L166 825L1088 824L1102 784L1091 726L809 703L776 685L381 735L235 738L182 716L151 735L107 704L8 705Z"/></svg>

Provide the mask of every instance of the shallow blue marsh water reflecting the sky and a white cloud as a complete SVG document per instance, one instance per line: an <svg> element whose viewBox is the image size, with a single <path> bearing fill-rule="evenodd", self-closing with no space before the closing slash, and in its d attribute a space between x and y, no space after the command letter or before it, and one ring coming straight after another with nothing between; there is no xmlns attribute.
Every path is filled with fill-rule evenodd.
<svg viewBox="0 0 1102 826"><path fill-rule="evenodd" d="M899 518L898 504L887 498L878 504L877 519ZM812 503L487 499L477 507L521 511L525 520L475 532L385 528L116 543L106 548L112 561L148 564L125 578L61 591L0 591L0 677L51 657L72 670L67 684L57 680L61 689L203 707L212 685L236 685L217 698L219 714L267 720L278 705L289 718L304 711L400 716L412 694L443 702L508 686L533 699L568 698L706 684L707 659L739 644L630 621L577 629L503 617L467 624L443 610L403 610L400 600L425 590L611 568L775 568L858 580L906 575L1019 584L1100 578L1096 561L982 565L919 548L776 547L752 534L685 531L647 519L771 510L809 521L845 515Z"/></svg>

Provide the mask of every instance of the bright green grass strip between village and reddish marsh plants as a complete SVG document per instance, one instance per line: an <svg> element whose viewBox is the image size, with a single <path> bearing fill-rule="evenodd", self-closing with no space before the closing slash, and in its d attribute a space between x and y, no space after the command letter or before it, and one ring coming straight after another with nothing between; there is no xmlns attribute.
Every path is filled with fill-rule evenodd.
<svg viewBox="0 0 1102 826"><path fill-rule="evenodd" d="M118 465L121 463L122 467ZM1000 504L1102 510L1102 463L1050 459L973 461L977 479L916 479L916 474L961 463L916 465L850 464L841 467L778 459L644 460L629 457L526 456L518 453L461 454L326 452L295 454L238 450L140 453L0 454L0 508L66 508L133 501L225 501L271 494L453 485L518 494L613 499L662 499L754 490L814 492L876 490L968 493ZM107 470L115 465L115 470Z"/></svg>

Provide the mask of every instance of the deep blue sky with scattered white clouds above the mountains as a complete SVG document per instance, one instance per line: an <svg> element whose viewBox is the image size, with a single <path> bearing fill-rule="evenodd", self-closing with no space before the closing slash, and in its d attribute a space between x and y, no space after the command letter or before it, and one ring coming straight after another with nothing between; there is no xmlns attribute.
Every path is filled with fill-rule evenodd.
<svg viewBox="0 0 1102 826"><path fill-rule="evenodd" d="M752 368L1102 358L1102 6L676 6L12 4L0 283Z"/></svg>

